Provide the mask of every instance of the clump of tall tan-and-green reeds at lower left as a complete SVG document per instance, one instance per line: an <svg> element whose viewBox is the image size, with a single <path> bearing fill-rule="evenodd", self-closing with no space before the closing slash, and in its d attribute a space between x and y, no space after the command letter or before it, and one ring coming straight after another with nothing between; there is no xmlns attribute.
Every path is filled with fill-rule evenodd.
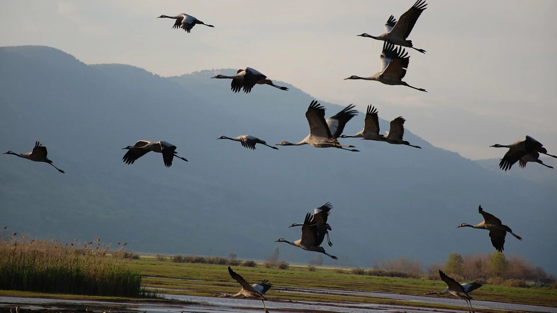
<svg viewBox="0 0 557 313"><path fill-rule="evenodd" d="M97 296L153 296L139 272L107 257L100 239L63 244L25 236L0 238L0 289Z"/></svg>

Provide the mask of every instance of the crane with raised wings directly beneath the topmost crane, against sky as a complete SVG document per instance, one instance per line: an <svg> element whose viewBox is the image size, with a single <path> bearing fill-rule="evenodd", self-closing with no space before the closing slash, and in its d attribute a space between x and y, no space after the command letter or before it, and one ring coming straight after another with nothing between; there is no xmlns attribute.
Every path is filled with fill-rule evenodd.
<svg viewBox="0 0 557 313"><path fill-rule="evenodd" d="M407 82L402 79L406 75L408 69L408 63L410 62L410 57L408 52L405 52L403 48L395 48L391 43L383 43L383 52L380 56L381 59L381 71L370 77L360 77L360 76L350 76L347 79L363 79L363 80L375 80L382 82L385 85L402 85L411 87L419 91L425 91L425 89L417 88L408 85Z"/></svg>

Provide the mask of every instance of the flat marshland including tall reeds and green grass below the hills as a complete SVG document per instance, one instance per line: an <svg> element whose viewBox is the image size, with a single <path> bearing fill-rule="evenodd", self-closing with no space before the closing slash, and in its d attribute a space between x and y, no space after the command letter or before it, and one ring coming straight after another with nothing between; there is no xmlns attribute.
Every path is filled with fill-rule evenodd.
<svg viewBox="0 0 557 313"><path fill-rule="evenodd" d="M225 292L235 294L240 290L240 285L228 275L228 265L177 263L170 261L170 258L145 255L139 257L131 253L132 257L139 257L134 259L123 257L129 257L130 254L121 249L111 254L109 251L110 247L101 248L97 241L81 244L80 248L57 241L4 241L0 247L0 296L185 303L172 299L178 299L179 296L186 296L184 299L188 299L187 296L216 299ZM213 258L214 261L222 261L221 259L227 260ZM273 288L266 296L270 301L278 301L276 303L312 301L327 304L422 307L431 310L463 310L466 307L464 301L451 295L441 298L456 302L432 303L433 301L428 302L431 297L397 299L395 296L421 296L429 291L442 291L446 287L442 281L355 275L350 269L328 266L316 266L310 271L307 266L290 265L287 269L280 270L266 268L259 262L255 267L250 262L230 262L238 264L232 268L250 283L269 280ZM384 294L374 294L377 292ZM485 285L471 295L475 300L557 307L557 290L549 287ZM495 309L481 311L500 312Z"/></svg>

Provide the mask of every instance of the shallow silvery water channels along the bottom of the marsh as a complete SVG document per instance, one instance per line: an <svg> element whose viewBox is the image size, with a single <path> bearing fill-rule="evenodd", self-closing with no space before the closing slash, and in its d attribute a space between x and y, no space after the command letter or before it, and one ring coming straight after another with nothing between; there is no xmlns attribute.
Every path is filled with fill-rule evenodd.
<svg viewBox="0 0 557 313"><path fill-rule="evenodd" d="M167 289L155 288L159 290L185 290L185 289ZM361 297L378 297L383 299L396 299L408 302L424 302L431 304L444 304L456 305L466 307L465 301L459 299L452 299L451 297L431 297L431 296L411 296L390 294L387 292L368 292L368 291L344 291L344 290L331 290L321 288L273 288L278 292L292 292L300 294L331 294L343 295L354 298ZM46 308L56 309L63 307L63 305L75 306L90 306L90 307L113 307L147 311L147 312L171 312L180 313L184 312L212 312L212 313L240 313L240 312L262 312L262 304L260 300L255 299L233 299L233 298L219 298L219 297L199 297L199 296L185 296L185 295L163 295L169 300L180 300L194 302L193 304L133 304L124 302L106 302L106 301L80 301L80 300L58 300L58 299L38 299L38 298L23 298L23 297L1 297L0 306L15 306L33 307L34 309ZM312 301L265 301L267 309L273 313L292 312L294 311L329 311L329 312L345 312L345 313L394 313L394 312L407 312L407 313L455 313L461 311L444 310L444 309L427 309L423 307L404 306L404 305L377 305L377 304L361 304L357 302L342 302L342 303L327 303L327 302L312 302ZM533 305L520 305L508 304L502 302L491 301L472 301L475 309L499 309L499 310L512 310L523 312L550 312L557 313L555 307L533 306ZM287 311L286 311L287 310ZM93 311L93 310L90 310Z"/></svg>

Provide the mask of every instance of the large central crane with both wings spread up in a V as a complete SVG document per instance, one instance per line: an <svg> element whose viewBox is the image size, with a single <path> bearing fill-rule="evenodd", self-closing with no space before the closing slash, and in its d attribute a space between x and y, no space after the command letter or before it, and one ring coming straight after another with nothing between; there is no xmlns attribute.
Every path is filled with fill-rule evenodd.
<svg viewBox="0 0 557 313"><path fill-rule="evenodd" d="M353 145L341 145L336 138L343 133L344 126L348 121L358 114L353 110L354 105L345 107L339 113L325 120L325 107L321 106L317 101L311 101L306 111L307 123L310 125L310 134L299 143L289 143L282 141L276 145L311 145L315 148L339 148L348 151L358 152ZM344 148L346 147L346 148Z"/></svg>

